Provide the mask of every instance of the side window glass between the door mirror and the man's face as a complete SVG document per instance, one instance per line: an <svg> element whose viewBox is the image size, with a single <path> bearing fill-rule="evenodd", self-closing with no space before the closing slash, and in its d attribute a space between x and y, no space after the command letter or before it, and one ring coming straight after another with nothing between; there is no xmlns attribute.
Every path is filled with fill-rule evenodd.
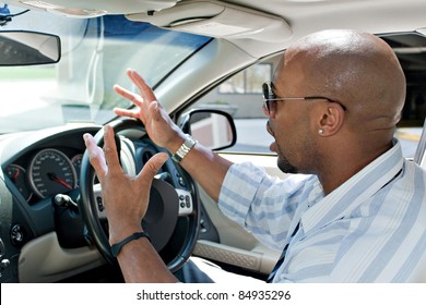
<svg viewBox="0 0 426 305"><path fill-rule="evenodd" d="M280 57L249 66L202 97L193 107L221 109L233 115L237 144L226 151L273 154L273 141L267 132L267 117L262 111L262 84L270 82Z"/></svg>

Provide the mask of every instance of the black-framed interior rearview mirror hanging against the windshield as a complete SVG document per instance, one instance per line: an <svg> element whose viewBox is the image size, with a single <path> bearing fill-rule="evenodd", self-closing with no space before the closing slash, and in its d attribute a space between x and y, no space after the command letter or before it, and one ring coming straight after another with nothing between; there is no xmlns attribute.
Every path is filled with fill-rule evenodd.
<svg viewBox="0 0 426 305"><path fill-rule="evenodd" d="M25 32L0 32L0 65L56 63L60 60L60 38L56 35Z"/></svg>

